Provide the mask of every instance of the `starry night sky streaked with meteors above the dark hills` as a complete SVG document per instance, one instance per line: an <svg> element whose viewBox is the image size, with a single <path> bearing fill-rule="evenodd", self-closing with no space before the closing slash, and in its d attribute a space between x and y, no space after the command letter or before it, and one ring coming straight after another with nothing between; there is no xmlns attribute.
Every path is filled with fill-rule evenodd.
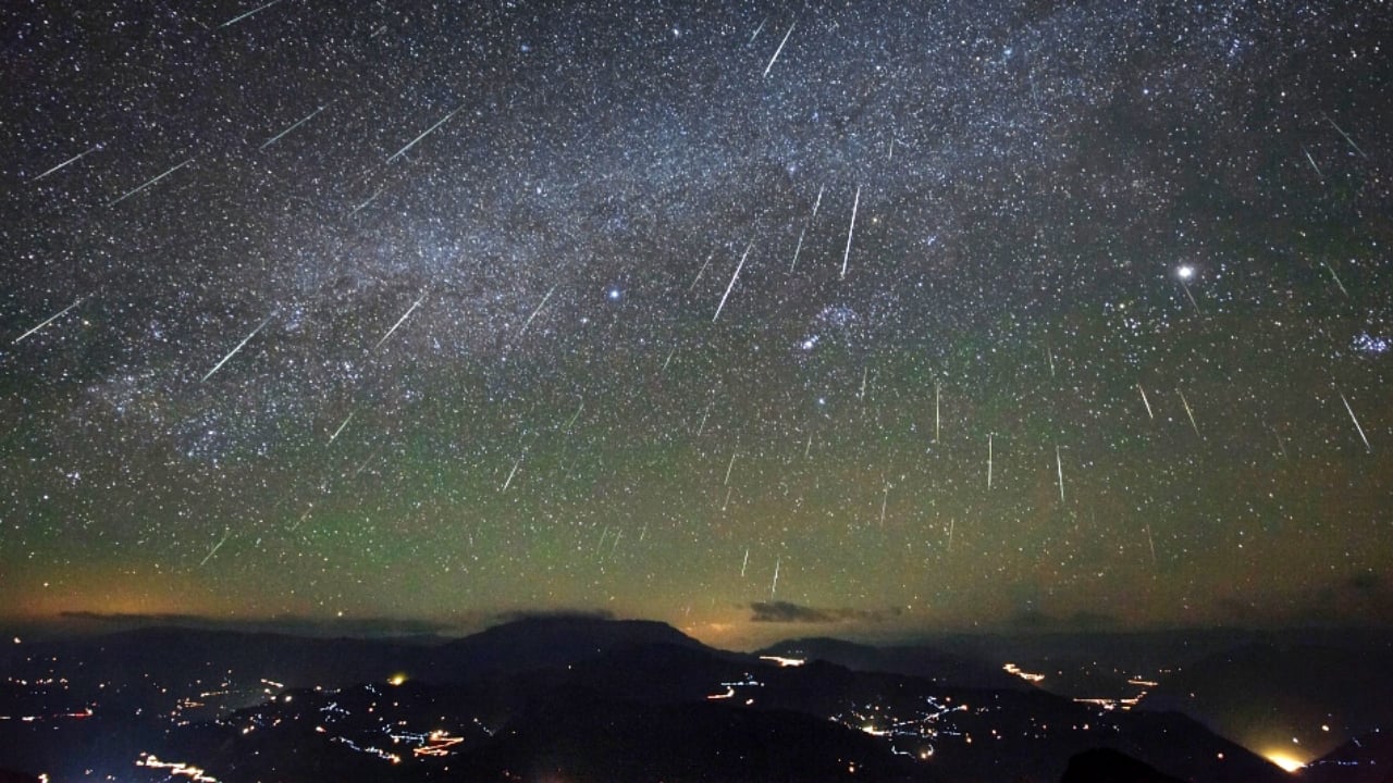
<svg viewBox="0 0 1393 783"><path fill-rule="evenodd" d="M1393 621L1393 10L32 3L0 605Z"/></svg>

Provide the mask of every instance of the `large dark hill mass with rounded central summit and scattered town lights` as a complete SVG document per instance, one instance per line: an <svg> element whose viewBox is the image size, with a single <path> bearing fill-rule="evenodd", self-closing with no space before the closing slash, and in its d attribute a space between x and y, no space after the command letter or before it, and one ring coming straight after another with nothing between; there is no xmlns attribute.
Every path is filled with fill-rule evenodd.
<svg viewBox="0 0 1393 783"><path fill-rule="evenodd" d="M156 783L177 762L220 783L1055 783L1102 747L1184 780L1290 782L1180 713L964 685L988 673L834 639L794 646L868 669L780 666L660 623L584 617L443 644L162 628L17 646L0 715L32 720L0 720L0 748L14 750L0 763L56 780L92 769Z"/></svg>

